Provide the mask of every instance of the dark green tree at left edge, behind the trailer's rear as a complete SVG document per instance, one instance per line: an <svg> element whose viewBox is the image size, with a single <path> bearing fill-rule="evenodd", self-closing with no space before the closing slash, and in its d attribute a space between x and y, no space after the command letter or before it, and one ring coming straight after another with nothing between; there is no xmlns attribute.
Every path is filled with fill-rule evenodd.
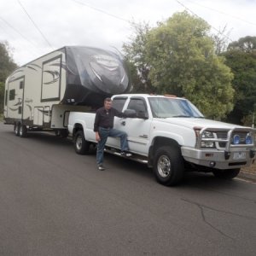
<svg viewBox="0 0 256 256"><path fill-rule="evenodd" d="M0 42L0 113L3 113L5 79L16 67L17 65L10 54L9 44L7 42Z"/></svg>

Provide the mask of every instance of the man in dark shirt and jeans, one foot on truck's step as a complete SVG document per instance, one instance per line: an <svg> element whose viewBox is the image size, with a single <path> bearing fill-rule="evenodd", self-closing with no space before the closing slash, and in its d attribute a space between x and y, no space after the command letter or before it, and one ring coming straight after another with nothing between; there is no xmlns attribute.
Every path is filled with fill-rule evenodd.
<svg viewBox="0 0 256 256"><path fill-rule="evenodd" d="M126 132L113 129L113 119L115 116L122 118L125 117L125 114L119 112L115 108L112 108L111 98L106 98L104 100L104 107L99 108L96 111L94 122L94 131L96 132L96 141L98 142L96 163L98 165L98 170L100 171L105 170L102 164L104 157L104 147L108 137L119 137L121 144L121 155L126 157L131 156L131 154L126 152L129 150Z"/></svg>

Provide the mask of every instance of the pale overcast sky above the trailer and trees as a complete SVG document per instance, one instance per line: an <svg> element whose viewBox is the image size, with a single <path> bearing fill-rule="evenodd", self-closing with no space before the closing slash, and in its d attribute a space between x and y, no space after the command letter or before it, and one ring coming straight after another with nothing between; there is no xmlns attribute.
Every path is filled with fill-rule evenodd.
<svg viewBox="0 0 256 256"><path fill-rule="evenodd" d="M256 36L256 0L0 0L0 41L19 66L65 45L121 50L131 21L156 26L185 9L230 41Z"/></svg>

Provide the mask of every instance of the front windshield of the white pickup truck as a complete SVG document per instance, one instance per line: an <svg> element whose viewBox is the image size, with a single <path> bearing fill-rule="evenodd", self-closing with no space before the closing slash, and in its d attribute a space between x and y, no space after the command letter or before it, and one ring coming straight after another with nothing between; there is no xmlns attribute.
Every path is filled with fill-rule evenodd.
<svg viewBox="0 0 256 256"><path fill-rule="evenodd" d="M148 101L154 118L204 118L203 114L185 99L150 97Z"/></svg>

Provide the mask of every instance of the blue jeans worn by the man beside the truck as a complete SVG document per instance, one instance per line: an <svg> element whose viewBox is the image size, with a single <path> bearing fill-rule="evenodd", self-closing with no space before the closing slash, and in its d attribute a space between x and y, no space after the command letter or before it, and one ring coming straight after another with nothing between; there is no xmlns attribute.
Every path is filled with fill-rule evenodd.
<svg viewBox="0 0 256 256"><path fill-rule="evenodd" d="M121 151L128 151L128 142L127 142L127 134L125 131L119 131L117 129L106 129L103 127L99 127L99 135L101 140L98 142L97 146L97 154L96 154L96 163L97 165L102 165L104 159L104 148L107 142L108 137L119 137L120 138L120 146Z"/></svg>

